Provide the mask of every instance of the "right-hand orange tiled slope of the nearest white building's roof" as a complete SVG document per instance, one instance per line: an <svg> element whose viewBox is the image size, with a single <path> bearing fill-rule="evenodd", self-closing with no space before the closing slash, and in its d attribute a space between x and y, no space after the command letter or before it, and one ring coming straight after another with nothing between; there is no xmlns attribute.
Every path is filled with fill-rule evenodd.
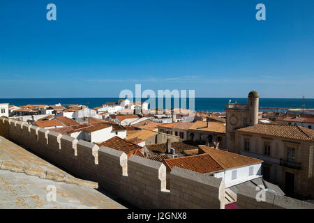
<svg viewBox="0 0 314 223"><path fill-rule="evenodd" d="M201 151L207 153L213 158L218 164L220 164L223 169L230 169L234 167L243 167L250 164L257 164L263 162L262 160L255 159L253 157L248 157L245 155L239 155L237 153L230 153L227 151L222 151L208 146L199 146Z"/></svg>

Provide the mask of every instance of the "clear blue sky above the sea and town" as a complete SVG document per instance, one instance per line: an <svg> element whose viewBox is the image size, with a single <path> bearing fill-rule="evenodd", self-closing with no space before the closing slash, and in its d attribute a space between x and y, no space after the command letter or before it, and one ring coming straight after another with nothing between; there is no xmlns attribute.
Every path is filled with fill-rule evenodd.
<svg viewBox="0 0 314 223"><path fill-rule="evenodd" d="M46 6L57 6L57 21ZM264 3L266 21L255 20ZM314 1L1 0L0 98L314 98Z"/></svg>

